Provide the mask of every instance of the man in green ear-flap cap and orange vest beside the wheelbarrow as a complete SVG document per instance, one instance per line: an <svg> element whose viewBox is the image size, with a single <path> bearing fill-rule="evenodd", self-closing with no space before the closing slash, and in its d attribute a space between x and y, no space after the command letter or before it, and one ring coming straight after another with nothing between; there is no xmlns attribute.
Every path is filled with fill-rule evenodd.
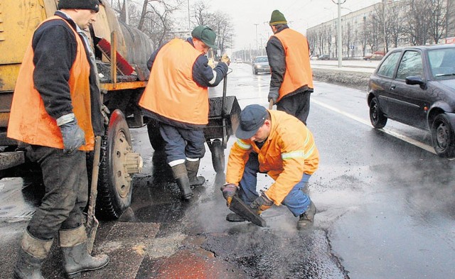
<svg viewBox="0 0 455 279"><path fill-rule="evenodd" d="M230 63L228 55L223 55L216 67L208 65L205 54L216 48L216 34L208 26L197 26L191 36L173 39L152 53L147 62L150 79L139 100L144 115L159 121L166 163L182 199L191 199L191 187L205 182L197 173L205 154L208 87L223 80Z"/></svg>

